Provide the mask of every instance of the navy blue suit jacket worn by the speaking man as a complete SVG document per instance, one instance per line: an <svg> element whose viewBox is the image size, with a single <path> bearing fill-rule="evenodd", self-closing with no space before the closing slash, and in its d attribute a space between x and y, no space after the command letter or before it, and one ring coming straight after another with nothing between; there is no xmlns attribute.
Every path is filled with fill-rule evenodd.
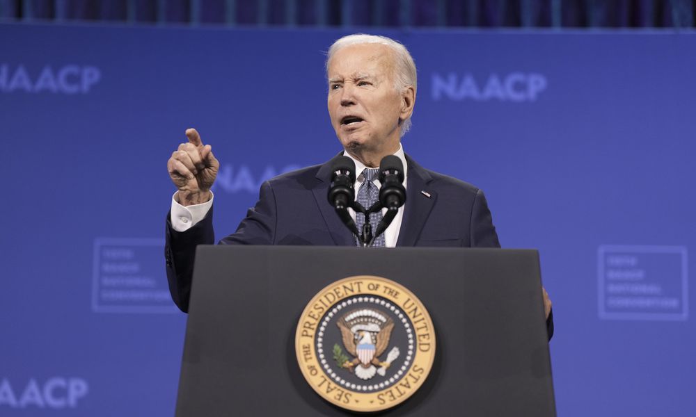
<svg viewBox="0 0 696 417"><path fill-rule="evenodd" d="M406 205L397 246L500 247L481 190L426 170L406 155ZM259 200L221 244L354 245L351 232L326 199L329 163L280 175L261 186ZM428 195L421 193L425 191ZM167 215L165 257L174 302L189 306L196 245L213 244L212 209L191 229L177 232Z"/></svg>

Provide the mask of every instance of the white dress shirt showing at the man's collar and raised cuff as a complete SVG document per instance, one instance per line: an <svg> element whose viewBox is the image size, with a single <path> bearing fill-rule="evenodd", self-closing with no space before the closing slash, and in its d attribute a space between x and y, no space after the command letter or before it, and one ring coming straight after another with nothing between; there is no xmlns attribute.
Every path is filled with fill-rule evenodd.
<svg viewBox="0 0 696 417"><path fill-rule="evenodd" d="M355 162L355 172L357 174L357 178L355 181L355 190L356 190L356 198L358 196L357 190L360 188L362 185L364 178L363 178L363 170L365 169L365 164L361 163L360 161L356 160L352 156L348 154L348 152L343 152L343 154L349 158L351 158ZM395 156L397 156L401 162L404 164L404 187L406 186L406 176L408 175L409 167L408 164L406 164L406 156L404 156L404 148L399 145L399 150L394 153ZM374 185L379 188L381 186L381 183L379 183L379 179L374 180ZM172 196L172 207L171 207L171 224L172 227L175 231L187 231L191 227L193 227L194 224L200 222L200 220L203 220L205 218L205 215L207 215L208 211L213 205L213 199L214 195L212 195L212 192L210 193L210 199L203 203L203 204L193 204L192 206L182 206L179 204L176 199L176 193ZM352 208L349 208L348 211L350 212L351 217L353 220L355 220L355 211L353 211ZM387 209L383 208L382 209L382 215L386 214ZM399 212L395 216L394 220L389 224L389 227L387 227L386 231L384 231L384 243L386 244L386 247L395 247L397 240L399 240L399 231L401 229L401 222L402 219L404 218L404 206L401 206L399 208ZM372 229L376 229L377 224L372 224Z"/></svg>

